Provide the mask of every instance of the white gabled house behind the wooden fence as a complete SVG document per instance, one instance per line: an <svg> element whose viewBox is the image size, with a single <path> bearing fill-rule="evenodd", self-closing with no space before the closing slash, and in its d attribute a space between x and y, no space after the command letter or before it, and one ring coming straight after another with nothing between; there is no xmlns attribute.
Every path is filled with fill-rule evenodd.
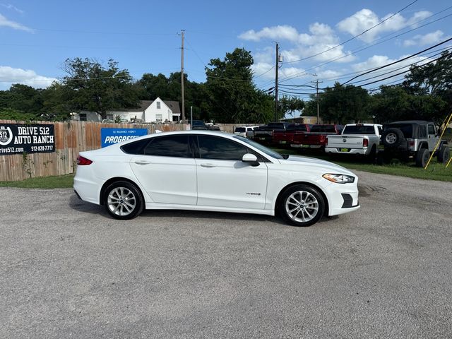
<svg viewBox="0 0 452 339"><path fill-rule="evenodd" d="M141 100L140 106L137 108L125 108L117 111L107 112L107 119L114 120L121 117L123 121L136 122L172 122L181 119L181 110L179 102L161 100L157 97L155 100ZM74 116L76 120L102 121L99 114L95 112L81 112Z"/></svg>

